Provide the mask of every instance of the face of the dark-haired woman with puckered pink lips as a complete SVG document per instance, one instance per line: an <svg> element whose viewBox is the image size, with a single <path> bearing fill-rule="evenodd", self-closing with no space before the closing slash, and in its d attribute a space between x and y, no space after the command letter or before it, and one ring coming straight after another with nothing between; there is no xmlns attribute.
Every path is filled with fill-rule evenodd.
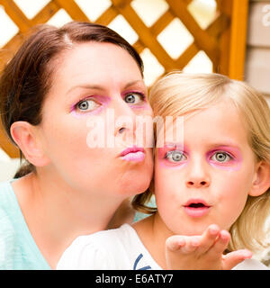
<svg viewBox="0 0 270 288"><path fill-rule="evenodd" d="M121 155L135 143L136 117L152 116L138 64L126 50L98 42L75 44L53 64L39 126L48 168L89 193L145 191L152 177L152 149ZM116 125L119 117L124 121Z"/></svg>

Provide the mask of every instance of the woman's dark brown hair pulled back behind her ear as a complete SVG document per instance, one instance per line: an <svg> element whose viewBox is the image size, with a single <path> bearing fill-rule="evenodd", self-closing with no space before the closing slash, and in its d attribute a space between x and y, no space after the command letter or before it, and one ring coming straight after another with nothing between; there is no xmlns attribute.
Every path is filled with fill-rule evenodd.
<svg viewBox="0 0 270 288"><path fill-rule="evenodd" d="M13 142L10 133L15 121L27 121L38 125L41 108L50 88L53 73L52 60L73 43L86 41L109 42L130 53L137 62L141 75L143 63L138 52L118 33L94 23L67 23L61 28L39 25L24 41L14 58L4 67L0 78L0 113L4 130ZM15 143L14 143L15 144ZM22 152L21 165L22 165ZM26 161L14 175L15 178L35 171L35 166Z"/></svg>

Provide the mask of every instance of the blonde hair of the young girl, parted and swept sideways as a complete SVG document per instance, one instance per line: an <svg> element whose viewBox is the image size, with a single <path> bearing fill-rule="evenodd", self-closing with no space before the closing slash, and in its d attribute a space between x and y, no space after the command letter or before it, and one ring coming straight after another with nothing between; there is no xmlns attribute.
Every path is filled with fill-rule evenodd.
<svg viewBox="0 0 270 288"><path fill-rule="evenodd" d="M270 109L264 97L244 82L220 74L184 74L172 72L157 81L150 90L149 103L155 116L181 116L207 109L221 101L230 101L243 117L247 136L257 161L270 163ZM154 191L153 181L146 193L133 199L138 211L153 213L146 206ZM229 232L229 250L265 246L266 217L270 211L270 188L260 196L247 196L247 203ZM247 217L248 216L248 217Z"/></svg>

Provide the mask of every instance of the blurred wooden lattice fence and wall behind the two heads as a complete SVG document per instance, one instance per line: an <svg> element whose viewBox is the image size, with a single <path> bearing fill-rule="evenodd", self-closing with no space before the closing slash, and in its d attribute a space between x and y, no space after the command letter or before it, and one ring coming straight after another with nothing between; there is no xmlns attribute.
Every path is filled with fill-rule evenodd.
<svg viewBox="0 0 270 288"><path fill-rule="evenodd" d="M174 69L245 80L270 103L270 1L0 0L0 73L39 23L101 23L138 51L150 87ZM0 181L14 176L19 153L0 127Z"/></svg>

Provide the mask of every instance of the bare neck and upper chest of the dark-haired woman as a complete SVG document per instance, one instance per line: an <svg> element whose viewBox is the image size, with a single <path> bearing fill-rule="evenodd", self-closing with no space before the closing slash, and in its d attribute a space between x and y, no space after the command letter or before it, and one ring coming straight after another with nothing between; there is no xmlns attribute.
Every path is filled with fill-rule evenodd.
<svg viewBox="0 0 270 288"><path fill-rule="evenodd" d="M13 187L31 235L52 268L76 237L106 229L123 200L76 191L56 177L33 173Z"/></svg>

